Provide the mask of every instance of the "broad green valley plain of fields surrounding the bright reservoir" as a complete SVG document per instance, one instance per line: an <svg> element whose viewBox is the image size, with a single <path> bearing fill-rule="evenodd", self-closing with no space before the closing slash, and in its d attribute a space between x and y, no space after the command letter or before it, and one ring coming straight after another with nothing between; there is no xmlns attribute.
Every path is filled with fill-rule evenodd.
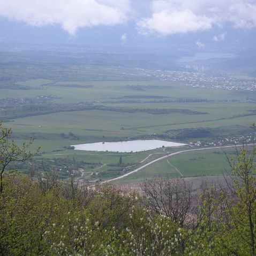
<svg viewBox="0 0 256 256"><path fill-rule="evenodd" d="M23 65L10 61L17 57ZM252 77L85 65L76 57L69 64L62 56L40 58L36 63L30 55L0 59L6 77L0 81L0 119L11 127L18 144L33 137L32 149L41 147L36 161L44 159L51 168L63 170L72 159L73 168L83 170L82 178L99 181L139 167L149 154L165 154L162 148L131 154L82 152L70 148L76 144L159 139L183 142L190 149L253 140ZM122 183L155 175L178 177L176 168L184 177L220 175L226 166L222 154L187 155L152 164ZM51 161L57 158L65 159L63 167Z"/></svg>

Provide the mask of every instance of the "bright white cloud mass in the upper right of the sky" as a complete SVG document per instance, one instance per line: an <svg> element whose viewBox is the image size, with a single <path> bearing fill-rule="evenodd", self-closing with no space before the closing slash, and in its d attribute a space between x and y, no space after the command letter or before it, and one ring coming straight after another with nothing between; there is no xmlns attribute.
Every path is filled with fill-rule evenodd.
<svg viewBox="0 0 256 256"><path fill-rule="evenodd" d="M168 35L205 31L227 23L236 28L256 27L256 1L155 0L151 16L139 20L137 26L142 33Z"/></svg>

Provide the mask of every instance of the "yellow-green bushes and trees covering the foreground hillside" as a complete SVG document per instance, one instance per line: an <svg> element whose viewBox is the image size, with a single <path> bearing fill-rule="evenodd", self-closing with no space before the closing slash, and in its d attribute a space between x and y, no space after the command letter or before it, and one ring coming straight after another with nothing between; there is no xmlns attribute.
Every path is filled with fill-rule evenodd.
<svg viewBox="0 0 256 256"><path fill-rule="evenodd" d="M237 160L233 165L234 184L229 190L202 187L198 210L193 213L193 222L187 223L154 210L150 205L154 202L155 206L152 198L116 187L79 187L73 179L65 184L56 182L56 176L38 181L28 176L11 176L5 179L0 196L0 252L255 255L253 157L242 149ZM44 182L48 185L43 185ZM166 189L166 184L161 185ZM183 182L180 184L184 188Z"/></svg>

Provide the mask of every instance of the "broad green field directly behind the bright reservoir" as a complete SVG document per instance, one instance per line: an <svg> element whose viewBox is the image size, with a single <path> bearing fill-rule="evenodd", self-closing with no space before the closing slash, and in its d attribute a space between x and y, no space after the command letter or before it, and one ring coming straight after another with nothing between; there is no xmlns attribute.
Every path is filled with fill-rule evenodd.
<svg viewBox="0 0 256 256"><path fill-rule="evenodd" d="M69 111L17 118L4 125L11 127L14 133L19 133L21 138L22 134L24 136L31 134L33 137L33 133L43 133L44 138L52 140L57 149L58 146L85 142L133 139L150 133L166 135L168 131L170 134L175 134L172 130L177 129L227 127L228 130L232 126L250 127L255 122L255 115L243 115L250 114L249 110L253 108L252 103L210 104L207 107L191 108L195 111L207 110L209 113L200 115L148 114L139 111L135 113L105 110ZM59 140L62 139L59 134L69 132L77 135L79 140L63 140L59 144Z"/></svg>

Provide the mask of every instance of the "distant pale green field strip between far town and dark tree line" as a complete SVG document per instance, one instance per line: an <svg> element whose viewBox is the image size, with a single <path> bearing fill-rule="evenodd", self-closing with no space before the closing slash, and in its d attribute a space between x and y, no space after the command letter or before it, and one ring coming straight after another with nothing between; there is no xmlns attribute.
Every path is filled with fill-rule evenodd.
<svg viewBox="0 0 256 256"><path fill-rule="evenodd" d="M52 71L54 73L54 70ZM95 73L96 77L96 73ZM174 98L199 98L207 100L245 100L247 96L255 97L256 92L228 91L214 88L194 88L187 86L185 82L153 80L115 80L109 74L106 80L53 80L53 79L29 79L17 81L15 84L30 87L31 89L1 89L1 99L5 97L35 97L37 95L55 95L61 97L56 102L92 102L92 101L119 101L127 95L136 96L165 96ZM73 87L66 87L73 85ZM135 86L144 86L141 91ZM83 87L92 86L92 87ZM150 86L161 86L152 88ZM134 89L133 89L134 88ZM185 93L184 93L185 92ZM127 100L127 98L126 98ZM157 105L157 104L154 104ZM182 103L177 103L182 105ZM191 105L191 104L190 104ZM193 104L192 104L193 105Z"/></svg>

